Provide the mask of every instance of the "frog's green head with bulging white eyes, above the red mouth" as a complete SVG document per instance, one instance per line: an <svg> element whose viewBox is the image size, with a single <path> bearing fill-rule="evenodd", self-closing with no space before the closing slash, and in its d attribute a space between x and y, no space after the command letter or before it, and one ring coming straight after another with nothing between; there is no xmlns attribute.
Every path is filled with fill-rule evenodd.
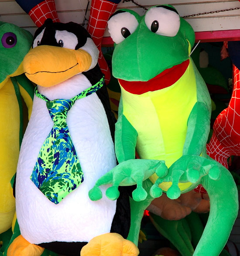
<svg viewBox="0 0 240 256"><path fill-rule="evenodd" d="M148 81L181 64L195 42L191 25L168 4L151 7L142 17L118 10L108 28L115 43L113 76L126 81Z"/></svg>

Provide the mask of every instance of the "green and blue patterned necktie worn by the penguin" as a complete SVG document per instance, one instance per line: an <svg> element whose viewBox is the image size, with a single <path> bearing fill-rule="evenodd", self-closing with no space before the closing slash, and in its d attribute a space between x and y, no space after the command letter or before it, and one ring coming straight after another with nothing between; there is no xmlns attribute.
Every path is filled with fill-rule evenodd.
<svg viewBox="0 0 240 256"><path fill-rule="evenodd" d="M40 149L31 180L55 204L83 182L82 168L66 123L67 113L75 100L95 93L102 86L103 78L70 100L48 100L35 88L36 96L46 101L53 127Z"/></svg>

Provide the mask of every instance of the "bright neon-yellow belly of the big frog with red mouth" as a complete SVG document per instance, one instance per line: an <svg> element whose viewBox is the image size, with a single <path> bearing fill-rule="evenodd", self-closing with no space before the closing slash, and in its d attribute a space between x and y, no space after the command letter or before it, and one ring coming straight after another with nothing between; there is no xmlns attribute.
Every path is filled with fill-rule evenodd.
<svg viewBox="0 0 240 256"><path fill-rule="evenodd" d="M173 85L140 95L121 87L123 114L137 130L137 152L142 159L165 160L170 167L182 156L187 121L197 102L197 89L192 64ZM154 182L158 176L151 177ZM182 190L189 184L183 186ZM171 183L162 184L167 190ZM181 189L181 188L180 188Z"/></svg>

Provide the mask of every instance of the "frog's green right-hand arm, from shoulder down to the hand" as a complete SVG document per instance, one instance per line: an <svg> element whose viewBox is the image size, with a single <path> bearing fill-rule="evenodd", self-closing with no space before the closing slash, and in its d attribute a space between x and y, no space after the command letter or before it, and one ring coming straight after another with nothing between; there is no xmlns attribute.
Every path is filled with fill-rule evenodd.
<svg viewBox="0 0 240 256"><path fill-rule="evenodd" d="M197 102L189 115L183 155L199 156L206 147L209 135L211 101L202 76L200 76L195 64L192 63L192 65L197 85Z"/></svg>

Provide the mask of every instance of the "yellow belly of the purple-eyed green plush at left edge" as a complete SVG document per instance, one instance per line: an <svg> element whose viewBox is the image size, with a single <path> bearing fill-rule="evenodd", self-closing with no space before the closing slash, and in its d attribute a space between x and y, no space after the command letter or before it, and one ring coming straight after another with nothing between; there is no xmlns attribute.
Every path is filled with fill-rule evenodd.
<svg viewBox="0 0 240 256"><path fill-rule="evenodd" d="M15 213L15 199L10 184L19 156L19 105L14 86L9 81L0 89L0 233L10 228Z"/></svg>

